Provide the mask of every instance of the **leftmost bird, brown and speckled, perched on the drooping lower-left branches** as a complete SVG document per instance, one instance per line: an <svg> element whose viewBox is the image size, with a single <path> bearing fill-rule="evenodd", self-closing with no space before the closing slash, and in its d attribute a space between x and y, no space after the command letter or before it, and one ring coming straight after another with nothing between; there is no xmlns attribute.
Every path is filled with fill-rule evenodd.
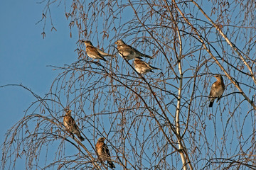
<svg viewBox="0 0 256 170"><path fill-rule="evenodd" d="M72 116L71 116L71 111L70 111L70 110L66 111L65 116L64 116L64 118L63 118L63 123L64 123L64 125L65 125L65 128L68 129L68 131L71 133L71 135L73 136L73 138L74 138L74 135L73 135L73 134L75 134L75 135L78 136L78 138L80 139L80 141L85 140L85 139L81 136L80 131L79 131L79 128L78 128L78 125L76 125L75 120L72 118Z"/></svg>

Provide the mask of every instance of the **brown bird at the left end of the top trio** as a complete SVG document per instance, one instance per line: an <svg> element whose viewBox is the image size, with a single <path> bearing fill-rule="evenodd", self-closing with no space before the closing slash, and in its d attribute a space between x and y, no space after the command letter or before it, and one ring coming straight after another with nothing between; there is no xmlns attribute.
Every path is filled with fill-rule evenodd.
<svg viewBox="0 0 256 170"><path fill-rule="evenodd" d="M98 59L98 60L105 60L105 56L110 56L110 57L114 57L114 55L110 55L107 54L106 52L103 52L102 50L98 49L97 47L94 47L92 45L92 42L90 42L89 40L87 41L82 41L85 43L86 45L86 53L89 57L91 57L92 59Z"/></svg>

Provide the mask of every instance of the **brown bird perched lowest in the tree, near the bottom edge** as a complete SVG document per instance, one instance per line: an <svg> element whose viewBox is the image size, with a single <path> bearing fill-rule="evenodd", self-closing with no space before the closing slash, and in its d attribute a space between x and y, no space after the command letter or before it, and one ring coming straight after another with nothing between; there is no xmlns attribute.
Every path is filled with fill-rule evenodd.
<svg viewBox="0 0 256 170"><path fill-rule="evenodd" d="M110 156L110 150L108 149L107 145L104 143L105 139L106 139L105 137L100 137L97 140L97 143L95 145L96 152L97 152L97 154L100 157L100 160L102 162L107 161L107 164L110 165L110 168L114 169L115 166L114 166L113 162L110 159L110 157L111 157Z"/></svg>

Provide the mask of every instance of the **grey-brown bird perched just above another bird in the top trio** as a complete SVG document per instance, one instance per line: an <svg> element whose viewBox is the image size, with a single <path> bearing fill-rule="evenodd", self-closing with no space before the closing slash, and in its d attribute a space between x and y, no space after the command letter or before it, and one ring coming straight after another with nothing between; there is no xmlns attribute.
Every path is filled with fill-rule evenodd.
<svg viewBox="0 0 256 170"><path fill-rule="evenodd" d="M149 55L144 55L142 54L142 52L139 52L134 47L125 44L123 40L117 40L117 42L114 43L117 44L117 50L119 52L119 55L121 57L124 57L126 60L132 60L134 58L140 57L153 58Z"/></svg>

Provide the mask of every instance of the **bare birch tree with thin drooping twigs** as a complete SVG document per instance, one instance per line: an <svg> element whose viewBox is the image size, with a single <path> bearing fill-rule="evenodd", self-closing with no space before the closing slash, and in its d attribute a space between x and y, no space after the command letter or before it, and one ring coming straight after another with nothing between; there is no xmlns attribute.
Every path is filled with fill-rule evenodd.
<svg viewBox="0 0 256 170"><path fill-rule="evenodd" d="M95 152L99 137L120 169L256 168L254 2L42 3L42 21L53 4L65 7L70 35L78 28L79 59L54 66L60 74L49 94L31 91L37 100L6 135L3 169L22 156L28 169L41 167L43 155L42 169L107 169ZM153 56L143 60L161 71L139 74L118 55L92 60L82 44L91 40L117 54L119 39ZM213 74L223 76L225 91L208 108ZM65 130L65 108L85 142ZM58 147L50 159L44 149L52 145Z"/></svg>

